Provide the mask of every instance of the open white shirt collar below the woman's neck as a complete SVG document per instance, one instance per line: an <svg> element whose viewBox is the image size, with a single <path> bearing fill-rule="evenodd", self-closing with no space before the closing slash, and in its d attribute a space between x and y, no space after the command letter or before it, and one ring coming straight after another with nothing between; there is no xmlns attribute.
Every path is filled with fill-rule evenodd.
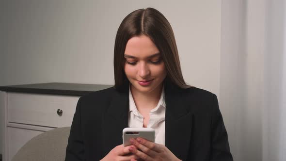
<svg viewBox="0 0 286 161"><path fill-rule="evenodd" d="M130 85L131 85L131 84L130 84ZM133 99L133 97L132 97L130 85L129 85L129 112L131 112L131 111L137 111L137 108L136 108L134 99ZM160 96L160 99L159 99L159 102L158 102L157 106L156 106L154 109L152 109L150 112L155 112L155 111L157 111L160 107L166 108L166 103L165 103L165 90L164 90L164 87L163 87L163 89L162 89L161 96Z"/></svg>

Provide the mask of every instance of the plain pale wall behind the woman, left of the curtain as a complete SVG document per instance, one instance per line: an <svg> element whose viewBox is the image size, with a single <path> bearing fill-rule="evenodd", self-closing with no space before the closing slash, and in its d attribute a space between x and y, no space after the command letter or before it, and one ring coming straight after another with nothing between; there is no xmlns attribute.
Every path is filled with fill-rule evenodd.
<svg viewBox="0 0 286 161"><path fill-rule="evenodd" d="M221 0L1 1L0 85L113 84L119 24L149 6L173 27L185 80L219 97Z"/></svg>

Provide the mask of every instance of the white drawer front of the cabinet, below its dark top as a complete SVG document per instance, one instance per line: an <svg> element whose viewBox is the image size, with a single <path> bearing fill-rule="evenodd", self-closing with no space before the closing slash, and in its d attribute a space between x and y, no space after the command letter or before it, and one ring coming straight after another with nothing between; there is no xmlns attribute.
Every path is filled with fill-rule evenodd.
<svg viewBox="0 0 286 161"><path fill-rule="evenodd" d="M0 92L3 161L11 161L32 137L71 126L79 96Z"/></svg>

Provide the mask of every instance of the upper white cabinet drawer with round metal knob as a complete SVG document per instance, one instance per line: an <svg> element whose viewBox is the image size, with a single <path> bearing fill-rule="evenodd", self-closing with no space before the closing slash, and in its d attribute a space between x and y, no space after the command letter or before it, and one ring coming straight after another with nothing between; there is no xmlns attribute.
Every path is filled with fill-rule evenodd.
<svg viewBox="0 0 286 161"><path fill-rule="evenodd" d="M71 126L79 97L8 93L8 122L53 128ZM62 115L57 110L63 111Z"/></svg>

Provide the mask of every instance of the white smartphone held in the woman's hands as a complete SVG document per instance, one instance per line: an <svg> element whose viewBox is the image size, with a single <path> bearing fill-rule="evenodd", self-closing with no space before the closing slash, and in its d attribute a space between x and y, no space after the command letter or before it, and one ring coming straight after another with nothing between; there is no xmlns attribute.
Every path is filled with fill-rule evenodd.
<svg viewBox="0 0 286 161"><path fill-rule="evenodd" d="M152 128L125 128L122 131L123 146L131 145L131 138L144 138L151 142L155 142L155 129Z"/></svg>

